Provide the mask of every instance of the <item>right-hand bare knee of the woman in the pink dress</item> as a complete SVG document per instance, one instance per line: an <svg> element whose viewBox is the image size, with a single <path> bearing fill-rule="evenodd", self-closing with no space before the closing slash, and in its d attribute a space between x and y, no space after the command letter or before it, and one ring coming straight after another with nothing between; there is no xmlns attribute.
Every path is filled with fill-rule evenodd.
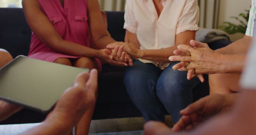
<svg viewBox="0 0 256 135"><path fill-rule="evenodd" d="M74 62L75 67L94 69L97 68L97 62L93 58L81 57Z"/></svg>

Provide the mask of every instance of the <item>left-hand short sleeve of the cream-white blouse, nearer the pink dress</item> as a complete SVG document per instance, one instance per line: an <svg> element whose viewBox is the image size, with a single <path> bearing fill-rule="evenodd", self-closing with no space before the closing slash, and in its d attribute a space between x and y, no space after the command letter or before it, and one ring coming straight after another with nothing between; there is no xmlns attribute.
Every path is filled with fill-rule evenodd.
<svg viewBox="0 0 256 135"><path fill-rule="evenodd" d="M124 13L124 29L137 33L138 22L135 19L133 0L127 0Z"/></svg>

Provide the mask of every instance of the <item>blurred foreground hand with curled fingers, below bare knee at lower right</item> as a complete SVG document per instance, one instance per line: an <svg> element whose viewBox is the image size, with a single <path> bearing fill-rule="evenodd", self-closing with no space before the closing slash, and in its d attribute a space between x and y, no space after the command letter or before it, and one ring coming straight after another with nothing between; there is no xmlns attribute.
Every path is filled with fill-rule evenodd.
<svg viewBox="0 0 256 135"><path fill-rule="evenodd" d="M235 100L236 94L216 94L199 99L180 111L183 116L174 125L173 131L190 130L209 117L230 110Z"/></svg>

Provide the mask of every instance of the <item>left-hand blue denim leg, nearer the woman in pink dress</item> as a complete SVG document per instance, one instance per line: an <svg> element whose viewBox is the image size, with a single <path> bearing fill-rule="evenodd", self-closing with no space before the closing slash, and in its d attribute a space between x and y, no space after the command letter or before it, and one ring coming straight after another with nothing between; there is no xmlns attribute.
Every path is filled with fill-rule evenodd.
<svg viewBox="0 0 256 135"><path fill-rule="evenodd" d="M124 74L124 85L134 105L146 121L164 121L164 106L156 95L156 82L162 70L138 60Z"/></svg>

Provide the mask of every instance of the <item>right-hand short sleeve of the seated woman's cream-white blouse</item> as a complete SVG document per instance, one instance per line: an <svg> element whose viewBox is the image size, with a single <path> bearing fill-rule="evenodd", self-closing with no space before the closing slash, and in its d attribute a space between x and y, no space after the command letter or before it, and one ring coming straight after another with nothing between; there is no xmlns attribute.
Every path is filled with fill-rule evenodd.
<svg viewBox="0 0 256 135"><path fill-rule="evenodd" d="M199 6L197 0L187 0L178 20L176 34L187 30L198 30Z"/></svg>

